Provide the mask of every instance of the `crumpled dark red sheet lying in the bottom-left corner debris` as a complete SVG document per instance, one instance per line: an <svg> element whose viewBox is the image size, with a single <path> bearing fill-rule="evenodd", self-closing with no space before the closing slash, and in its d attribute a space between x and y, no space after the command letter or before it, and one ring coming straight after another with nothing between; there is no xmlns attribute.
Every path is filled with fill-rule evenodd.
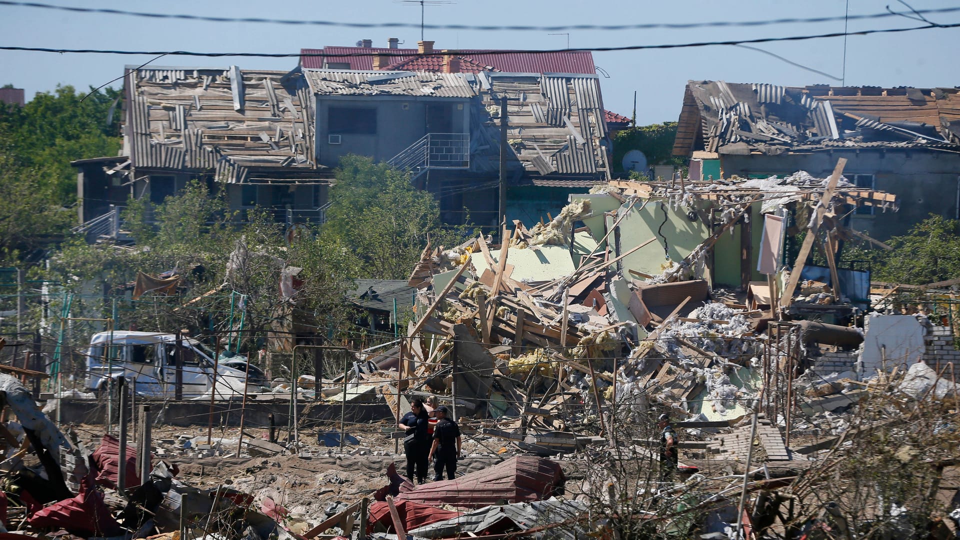
<svg viewBox="0 0 960 540"><path fill-rule="evenodd" d="M93 486L84 486L80 495L73 499L65 499L38 510L27 523L34 528L63 528L83 538L123 533L104 503L104 494Z"/></svg>

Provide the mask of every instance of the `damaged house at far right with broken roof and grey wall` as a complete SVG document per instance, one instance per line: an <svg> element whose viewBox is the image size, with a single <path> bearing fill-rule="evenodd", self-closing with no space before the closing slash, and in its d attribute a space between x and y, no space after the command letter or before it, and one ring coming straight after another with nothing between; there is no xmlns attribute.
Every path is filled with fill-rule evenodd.
<svg viewBox="0 0 960 540"><path fill-rule="evenodd" d="M904 203L897 219L852 214L852 229L885 239L930 212L960 217L960 90L690 81L673 154L695 180L826 177L846 158L852 184Z"/></svg>

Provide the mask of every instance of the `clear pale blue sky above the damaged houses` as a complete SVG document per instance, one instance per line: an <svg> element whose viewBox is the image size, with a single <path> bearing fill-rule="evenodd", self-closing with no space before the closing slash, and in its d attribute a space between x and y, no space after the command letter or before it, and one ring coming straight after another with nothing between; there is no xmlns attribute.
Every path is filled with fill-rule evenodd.
<svg viewBox="0 0 960 540"><path fill-rule="evenodd" d="M285 0L204 2L166 0L129 2L112 0L45 0L60 6L82 6L140 12L183 13L229 17L297 18L339 22L406 22L420 24L420 7L393 0L318 2ZM691 23L754 21L779 18L843 16L849 13L908 12L899 0L452 0L426 7L426 22L433 24L555 26L573 24ZM914 0L916 10L960 7L960 2ZM937 24L960 23L960 12L926 15ZM903 16L849 21L849 31L908 28L924 23ZM844 31L844 20L789 23L755 27L654 29L630 31L478 31L426 30L437 49L555 49L569 39L573 48L616 47L663 43L754 39L828 34ZM414 48L420 28L357 29L268 23L202 22L134 17L106 13L61 12L0 5L0 45L63 49L188 50L203 52L298 53L301 48L353 45L370 38L386 47L388 37L398 37L401 47ZM739 46L708 46L668 50L595 52L593 61L601 76L607 109L630 116L645 125L676 121L688 80L723 80L731 83L769 83L780 86L830 84L840 86L960 86L956 51L960 28L931 28L898 34L829 37L751 45L823 72L813 73L766 53ZM58 85L87 89L123 74L126 64L140 64L150 56L60 54L0 51L0 85L26 89L27 99L37 91ZM296 58L197 58L168 56L152 65L228 66L245 69L291 69ZM846 68L845 68L846 64ZM829 76L835 77L834 80ZM843 81L839 80L843 79ZM120 86L115 82L112 86Z"/></svg>

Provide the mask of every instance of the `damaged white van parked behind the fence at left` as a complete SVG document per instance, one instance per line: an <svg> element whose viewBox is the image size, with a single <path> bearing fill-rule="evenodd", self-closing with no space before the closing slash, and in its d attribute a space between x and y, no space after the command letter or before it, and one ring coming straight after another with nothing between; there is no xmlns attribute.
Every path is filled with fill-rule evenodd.
<svg viewBox="0 0 960 540"><path fill-rule="evenodd" d="M209 397L213 385L214 353L191 338L180 339L183 398ZM231 358L236 364L236 359ZM230 399L261 390L260 380L243 368L217 365L217 399ZM90 338L86 352L87 390L107 389L108 380L125 378L138 395L172 398L177 383L177 335L151 331L101 331Z"/></svg>

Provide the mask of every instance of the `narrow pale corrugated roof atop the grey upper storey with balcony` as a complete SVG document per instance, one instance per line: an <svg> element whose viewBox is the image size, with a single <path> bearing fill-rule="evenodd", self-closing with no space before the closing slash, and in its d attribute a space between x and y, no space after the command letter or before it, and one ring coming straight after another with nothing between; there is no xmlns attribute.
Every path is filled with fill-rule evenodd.
<svg viewBox="0 0 960 540"><path fill-rule="evenodd" d="M464 73L304 69L303 74L310 89L320 95L408 95L459 98L477 95L477 90L469 80L468 74Z"/></svg>

